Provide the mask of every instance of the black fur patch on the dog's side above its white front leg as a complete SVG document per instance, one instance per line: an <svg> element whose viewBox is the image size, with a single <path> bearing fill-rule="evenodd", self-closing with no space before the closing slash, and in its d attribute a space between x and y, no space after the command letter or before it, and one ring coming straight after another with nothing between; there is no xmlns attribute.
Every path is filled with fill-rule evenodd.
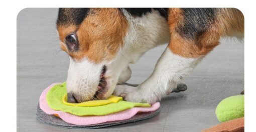
<svg viewBox="0 0 256 132"><path fill-rule="evenodd" d="M215 8L181 8L184 21L178 23L176 30L187 39L196 39L213 23Z"/></svg>

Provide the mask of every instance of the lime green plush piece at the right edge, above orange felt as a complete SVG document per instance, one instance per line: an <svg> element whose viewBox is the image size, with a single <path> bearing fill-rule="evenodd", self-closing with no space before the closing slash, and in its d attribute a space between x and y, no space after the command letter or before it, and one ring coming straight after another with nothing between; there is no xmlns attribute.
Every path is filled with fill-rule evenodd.
<svg viewBox="0 0 256 132"><path fill-rule="evenodd" d="M244 116L244 95L229 96L219 102L215 110L220 122Z"/></svg>

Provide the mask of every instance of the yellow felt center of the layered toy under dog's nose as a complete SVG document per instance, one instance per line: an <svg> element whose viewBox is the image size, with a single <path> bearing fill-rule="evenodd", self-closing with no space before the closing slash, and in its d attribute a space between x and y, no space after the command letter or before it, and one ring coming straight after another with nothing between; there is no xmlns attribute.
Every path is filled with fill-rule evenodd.
<svg viewBox="0 0 256 132"><path fill-rule="evenodd" d="M62 98L62 102L66 105L71 105L71 106L100 106L100 105L105 105L109 103L116 103L119 100L122 100L122 97L120 96L114 96L111 95L105 100L91 100L91 101L86 101L86 102L80 102L80 103L70 103L67 102L67 94Z"/></svg>

